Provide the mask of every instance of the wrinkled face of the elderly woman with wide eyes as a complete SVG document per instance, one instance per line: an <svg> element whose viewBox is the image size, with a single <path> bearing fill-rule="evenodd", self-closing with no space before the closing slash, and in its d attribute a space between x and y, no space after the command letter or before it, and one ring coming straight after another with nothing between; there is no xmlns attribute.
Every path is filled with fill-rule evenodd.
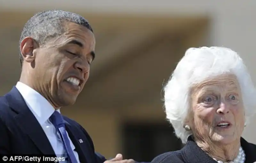
<svg viewBox="0 0 256 163"><path fill-rule="evenodd" d="M197 84L192 89L194 135L214 142L240 139L244 129L244 107L235 75L225 74Z"/></svg>

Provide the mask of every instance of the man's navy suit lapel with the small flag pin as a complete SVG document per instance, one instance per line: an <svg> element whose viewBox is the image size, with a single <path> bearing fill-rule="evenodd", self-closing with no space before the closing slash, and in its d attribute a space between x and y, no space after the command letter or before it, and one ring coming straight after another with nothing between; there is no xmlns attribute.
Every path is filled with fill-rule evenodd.
<svg viewBox="0 0 256 163"><path fill-rule="evenodd" d="M80 162L93 163L92 156L90 156L90 153L92 152L89 151L90 146L88 146L87 139L84 140L80 138L78 135L75 135L75 133L78 133L78 132L67 121L65 121L65 124L66 124L66 130L68 132L68 136L75 146L75 150L78 153Z"/></svg>

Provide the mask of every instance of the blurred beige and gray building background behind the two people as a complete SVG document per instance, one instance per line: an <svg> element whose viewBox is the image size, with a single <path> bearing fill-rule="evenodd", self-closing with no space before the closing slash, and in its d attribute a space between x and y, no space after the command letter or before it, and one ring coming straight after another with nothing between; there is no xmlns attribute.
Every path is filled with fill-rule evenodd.
<svg viewBox="0 0 256 163"><path fill-rule="evenodd" d="M0 94L20 75L19 37L36 12L84 16L96 37L96 59L77 103L62 113L91 135L106 158L150 161L180 142L165 121L162 88L185 50L226 46L242 56L256 84L256 1L0 0ZM255 108L253 108L255 109ZM244 138L256 143L255 117Z"/></svg>

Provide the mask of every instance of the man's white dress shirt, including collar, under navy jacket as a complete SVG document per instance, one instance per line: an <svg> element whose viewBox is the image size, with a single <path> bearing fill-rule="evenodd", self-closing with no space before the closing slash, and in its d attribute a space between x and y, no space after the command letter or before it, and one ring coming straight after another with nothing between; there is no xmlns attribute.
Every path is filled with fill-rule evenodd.
<svg viewBox="0 0 256 163"><path fill-rule="evenodd" d="M49 139L55 154L58 157L63 157L64 155L66 155L67 153L60 134L59 132L57 132L54 125L49 120L55 109L42 95L40 95L38 92L36 92L34 89L30 88L26 84L18 81L16 84L16 88L19 90L21 96L24 98L26 104L28 105L28 108L36 117L38 123L42 126L42 129L44 130L47 138ZM60 112L60 110L57 111ZM74 151L75 146L70 140L69 136L68 139L70 141L71 148ZM77 162L79 162L77 152L74 151L74 154L76 156Z"/></svg>

